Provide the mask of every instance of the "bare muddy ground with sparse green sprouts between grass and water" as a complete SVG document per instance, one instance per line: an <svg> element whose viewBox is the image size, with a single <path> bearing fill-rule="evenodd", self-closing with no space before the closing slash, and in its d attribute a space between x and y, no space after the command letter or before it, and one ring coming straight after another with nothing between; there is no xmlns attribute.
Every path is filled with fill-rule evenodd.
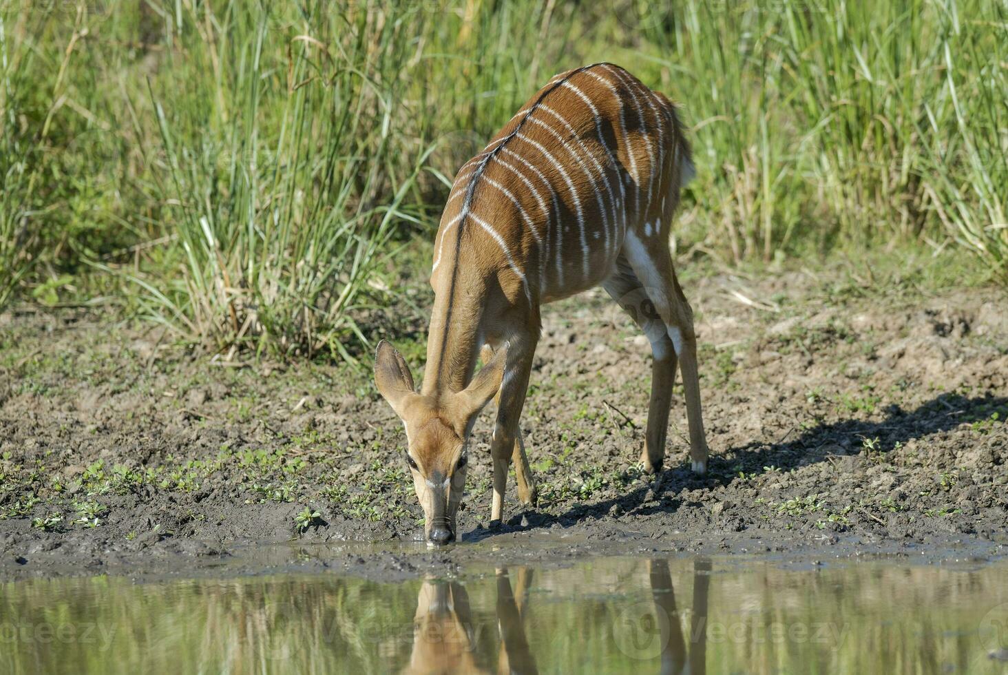
<svg viewBox="0 0 1008 675"><path fill-rule="evenodd" d="M367 549L343 566L451 565L472 542L529 555L547 538L568 544L535 555L1005 553L1003 290L843 269L709 273L684 287L702 343L707 476L688 471L679 385L666 470L641 474L649 349L596 292L544 313L523 419L538 508L520 507L512 478L506 523L486 528L488 410L464 541ZM410 325L389 337L415 373L421 317ZM405 438L367 365L224 362L93 309L0 315L0 578L185 568L253 543L414 540Z"/></svg>

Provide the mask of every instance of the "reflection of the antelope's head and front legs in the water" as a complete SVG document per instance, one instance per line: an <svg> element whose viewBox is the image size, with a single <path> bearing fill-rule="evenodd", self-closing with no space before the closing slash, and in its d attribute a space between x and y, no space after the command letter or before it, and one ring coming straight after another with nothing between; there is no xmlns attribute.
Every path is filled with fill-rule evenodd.
<svg viewBox="0 0 1008 675"><path fill-rule="evenodd" d="M497 570L499 673L536 673L525 639L523 608L532 571L519 568L511 589L507 569ZM487 673L476 662L476 635L469 595L455 581L427 580L420 587L413 618L413 651L404 673Z"/></svg>

